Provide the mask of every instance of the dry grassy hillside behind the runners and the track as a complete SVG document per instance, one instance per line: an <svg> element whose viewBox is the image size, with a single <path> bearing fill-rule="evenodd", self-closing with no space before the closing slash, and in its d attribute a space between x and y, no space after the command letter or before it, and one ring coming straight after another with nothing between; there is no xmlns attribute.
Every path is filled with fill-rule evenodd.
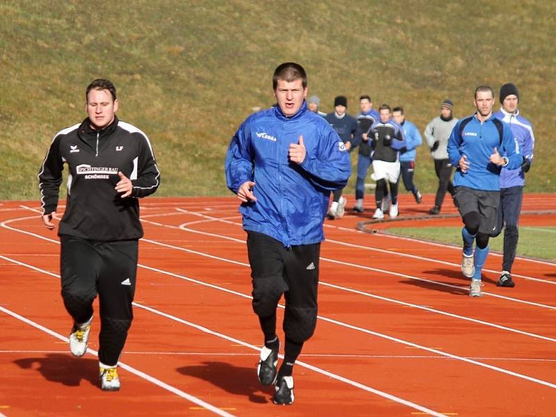
<svg viewBox="0 0 556 417"><path fill-rule="evenodd" d="M0 3L0 199L36 199L54 133L85 117L92 79L118 88L119 117L152 140L158 195L225 195L229 139L272 104L286 60L309 95L348 113L370 94L403 105L423 131L439 103L473 112L473 90L514 82L537 143L528 190L556 192L554 1L3 0ZM498 108L498 104L496 105ZM425 147L416 183L436 189ZM354 175L348 192L353 190Z"/></svg>

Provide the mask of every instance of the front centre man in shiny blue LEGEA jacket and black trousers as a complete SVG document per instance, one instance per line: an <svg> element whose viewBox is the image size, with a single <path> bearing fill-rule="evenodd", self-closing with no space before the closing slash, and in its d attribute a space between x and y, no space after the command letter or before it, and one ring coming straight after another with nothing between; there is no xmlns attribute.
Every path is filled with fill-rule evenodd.
<svg viewBox="0 0 556 417"><path fill-rule="evenodd" d="M226 179L241 201L251 264L253 310L264 334L257 375L275 384L274 402L293 402L293 365L316 327L322 223L330 191L350 177L350 156L329 123L307 109L297 63L272 78L277 105L247 117L231 139ZM277 370L276 309L284 313L284 362Z"/></svg>

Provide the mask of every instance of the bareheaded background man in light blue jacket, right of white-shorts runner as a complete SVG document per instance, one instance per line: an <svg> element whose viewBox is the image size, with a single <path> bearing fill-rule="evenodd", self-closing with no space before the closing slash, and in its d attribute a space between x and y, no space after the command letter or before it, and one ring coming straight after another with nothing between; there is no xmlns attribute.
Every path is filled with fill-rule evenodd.
<svg viewBox="0 0 556 417"><path fill-rule="evenodd" d="M415 156L417 147L423 143L419 129L414 123L405 120L404 108L394 107L392 109L393 120L402 126L405 136L405 147L400 150L400 172L406 191L411 191L417 204L421 204L421 193L413 182L415 173Z"/></svg>

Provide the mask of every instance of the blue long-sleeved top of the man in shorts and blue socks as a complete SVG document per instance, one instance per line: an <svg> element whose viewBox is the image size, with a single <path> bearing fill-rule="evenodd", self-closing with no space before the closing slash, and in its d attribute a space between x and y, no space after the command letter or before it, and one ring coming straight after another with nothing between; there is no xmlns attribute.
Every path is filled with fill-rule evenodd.
<svg viewBox="0 0 556 417"><path fill-rule="evenodd" d="M457 167L454 186L499 191L500 167L489 162L489 158L496 147L500 155L507 156L507 169L515 170L523 162L518 142L512 135L509 125L502 122L503 134L502 143L500 143L500 134L493 122L494 115L484 122L477 119L477 113L470 117L471 120L465 125L461 136L459 135L459 126L468 117L458 120L448 139L448 156L452 165L457 167L459 159L464 155L471 164L466 173L461 172Z"/></svg>

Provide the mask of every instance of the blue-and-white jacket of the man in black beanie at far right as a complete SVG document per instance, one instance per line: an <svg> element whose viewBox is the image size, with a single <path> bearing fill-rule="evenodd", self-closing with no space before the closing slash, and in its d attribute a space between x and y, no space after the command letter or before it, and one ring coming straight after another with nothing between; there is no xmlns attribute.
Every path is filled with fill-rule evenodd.
<svg viewBox="0 0 556 417"><path fill-rule="evenodd" d="M494 113L502 122L509 124L512 129L523 158L533 161L534 134L531 122L517 111L515 114L506 113L502 108ZM500 188L509 188L525 185L523 170L507 170L505 167L500 172Z"/></svg>

